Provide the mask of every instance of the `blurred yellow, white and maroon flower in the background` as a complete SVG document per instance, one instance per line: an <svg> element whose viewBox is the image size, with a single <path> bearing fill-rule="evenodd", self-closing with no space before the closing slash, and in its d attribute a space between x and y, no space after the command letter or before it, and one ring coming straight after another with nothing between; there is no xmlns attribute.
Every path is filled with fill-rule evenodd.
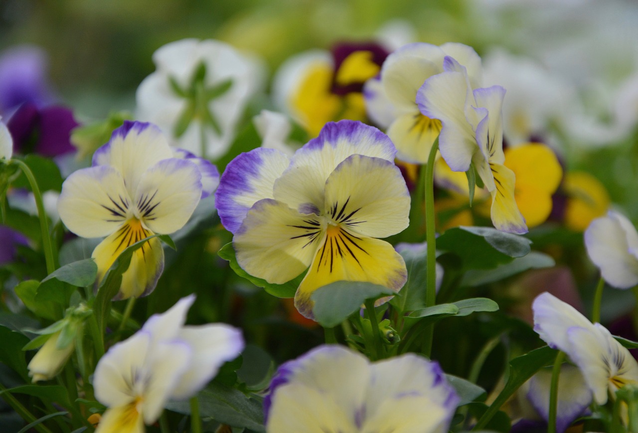
<svg viewBox="0 0 638 433"><path fill-rule="evenodd" d="M279 108L318 135L331 121L366 120L363 86L375 77L388 52L378 43L342 43L331 52L305 52L279 69L273 92Z"/></svg>

